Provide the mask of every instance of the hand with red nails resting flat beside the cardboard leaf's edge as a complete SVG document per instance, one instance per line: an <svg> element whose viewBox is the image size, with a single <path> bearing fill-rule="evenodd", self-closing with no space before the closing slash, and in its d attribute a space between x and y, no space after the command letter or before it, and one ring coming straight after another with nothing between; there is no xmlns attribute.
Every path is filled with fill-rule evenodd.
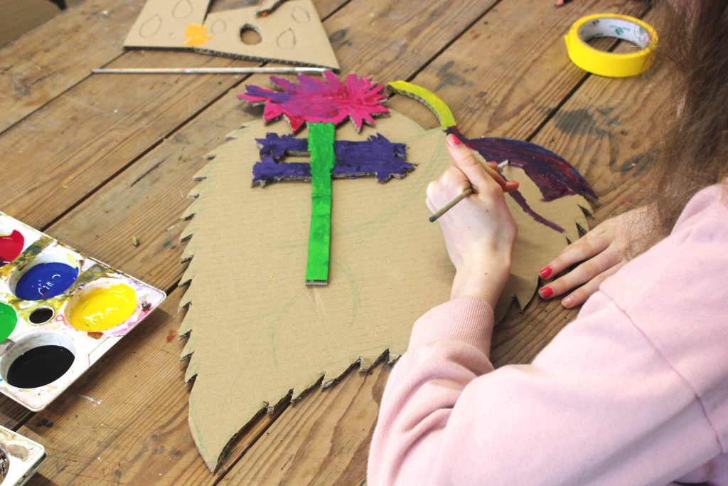
<svg viewBox="0 0 728 486"><path fill-rule="evenodd" d="M558 297L581 285L561 299L561 305L568 308L585 302L597 291L599 284L628 262L627 233L635 225L641 227L646 224L645 219L645 208L622 213L598 224L582 238L563 248L555 259L539 271L541 278L547 280L573 264L583 263L539 289L541 297Z"/></svg>

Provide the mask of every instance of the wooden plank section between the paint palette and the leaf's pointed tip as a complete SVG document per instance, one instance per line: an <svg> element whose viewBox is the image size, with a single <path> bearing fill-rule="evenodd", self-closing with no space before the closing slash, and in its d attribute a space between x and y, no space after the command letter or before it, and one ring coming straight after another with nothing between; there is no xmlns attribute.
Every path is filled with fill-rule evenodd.
<svg viewBox="0 0 728 486"><path fill-rule="evenodd" d="M186 474L199 457L186 425L183 343L175 339L179 294L20 427L49 455L29 484L197 484Z"/></svg>

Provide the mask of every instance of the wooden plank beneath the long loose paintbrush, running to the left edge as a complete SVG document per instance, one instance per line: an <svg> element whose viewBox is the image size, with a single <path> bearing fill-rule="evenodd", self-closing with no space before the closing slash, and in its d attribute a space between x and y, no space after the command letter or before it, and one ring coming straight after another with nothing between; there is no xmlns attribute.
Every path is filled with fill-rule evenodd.
<svg viewBox="0 0 728 486"><path fill-rule="evenodd" d="M343 3L315 2L323 15ZM116 33L119 43L132 20ZM94 48L90 43L85 50ZM255 65L170 51L131 51L111 63L115 68ZM33 227L45 227L242 79L226 74L85 79L0 135L4 162L23 167L7 174L0 207Z"/></svg>

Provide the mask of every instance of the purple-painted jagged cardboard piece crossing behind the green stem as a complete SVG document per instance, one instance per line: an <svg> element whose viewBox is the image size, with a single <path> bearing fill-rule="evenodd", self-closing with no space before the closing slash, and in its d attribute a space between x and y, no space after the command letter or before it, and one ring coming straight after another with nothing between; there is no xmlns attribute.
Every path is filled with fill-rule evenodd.
<svg viewBox="0 0 728 486"><path fill-rule="evenodd" d="M280 162L286 154L307 152L305 138L267 133L266 138L256 141L261 147L261 161L253 165L253 185L311 179L308 162ZM333 147L336 154L333 177L375 176L377 181L386 182L392 177L402 179L414 170L414 164L405 160L406 145L392 143L379 133L368 141L336 141Z"/></svg>

